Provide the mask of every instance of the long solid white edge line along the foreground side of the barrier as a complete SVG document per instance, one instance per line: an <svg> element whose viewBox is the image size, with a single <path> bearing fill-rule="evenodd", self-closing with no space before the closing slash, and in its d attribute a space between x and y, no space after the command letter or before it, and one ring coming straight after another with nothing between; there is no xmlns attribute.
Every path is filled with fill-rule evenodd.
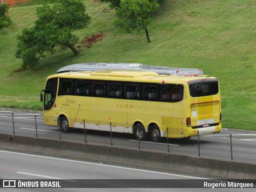
<svg viewBox="0 0 256 192"><path fill-rule="evenodd" d="M180 175L180 174L164 173L164 172L158 172L158 171L150 171L150 170L143 170L143 169L136 169L136 168L129 168L129 167L121 167L121 166L114 166L114 165L107 165L107 164L102 164L102 163L92 163L92 162L85 162L85 161L78 161L78 160L70 160L70 159L63 159L63 158L56 158L56 157L32 155L32 154L26 154L26 153L18 153L18 152L10 152L10 151L2 151L2 150L0 150L0 152L11 153L11 154L19 154L19 155L24 155L24 156L33 156L33 157L38 157L38 158L62 160L62 161L82 163L82 164L89 164L89 165L96 165L96 166L120 168L120 169L125 169L125 170L133 170L133 171L140 171L140 172L147 172L147 173L154 173L154 174L162 174L162 175L169 175L169 176L179 176L179 177L192 178L192 179L208 179L208 178L202 178L202 177L184 176L184 175Z"/></svg>

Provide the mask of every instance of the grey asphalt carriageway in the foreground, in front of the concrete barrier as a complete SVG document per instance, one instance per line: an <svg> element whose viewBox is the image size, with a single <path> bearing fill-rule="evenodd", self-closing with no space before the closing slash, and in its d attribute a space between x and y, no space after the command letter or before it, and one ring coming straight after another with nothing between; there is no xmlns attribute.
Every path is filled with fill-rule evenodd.
<svg viewBox="0 0 256 192"><path fill-rule="evenodd" d="M114 164L102 164L100 162L88 162L74 160L69 158L59 158L52 156L42 156L39 154L20 153L17 151L6 151L0 149L0 179L54 179L65 180L76 186L80 179L95 179L94 188L61 188L54 191L90 191L90 192L203 192L203 191L224 191L224 192L240 192L241 188L134 188L131 184L129 188L97 188L98 185L104 183L105 179L153 179L154 181L168 179L170 182L182 181L182 186L187 186L196 182L196 180L211 180L211 178L201 178L186 174L170 174L167 172L158 172L154 170L138 169L133 167L125 167ZM103 180L103 181L102 181ZM211 180L216 181L216 180ZM98 182L98 183L97 183ZM99 183L102 182L102 183ZM110 181L111 182L111 181ZM150 182L150 180L149 180ZM221 182L218 180L216 182ZM111 184L111 183L110 183ZM150 183L148 183L150 185ZM199 186L198 186L199 187ZM0 189L1 190L1 189ZM52 191L53 189L32 189L32 188L2 188L3 191ZM245 192L252 192L255 189L242 189Z"/></svg>

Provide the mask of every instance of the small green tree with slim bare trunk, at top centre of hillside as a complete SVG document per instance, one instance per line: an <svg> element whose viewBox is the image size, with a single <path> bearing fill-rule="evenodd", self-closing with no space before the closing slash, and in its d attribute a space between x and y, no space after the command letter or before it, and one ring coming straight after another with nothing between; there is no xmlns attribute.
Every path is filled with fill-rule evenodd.
<svg viewBox="0 0 256 192"><path fill-rule="evenodd" d="M116 10L117 18L114 19L114 24L128 32L145 30L150 43L147 26L152 23L152 16L158 8L158 0L121 0L120 7Z"/></svg>

